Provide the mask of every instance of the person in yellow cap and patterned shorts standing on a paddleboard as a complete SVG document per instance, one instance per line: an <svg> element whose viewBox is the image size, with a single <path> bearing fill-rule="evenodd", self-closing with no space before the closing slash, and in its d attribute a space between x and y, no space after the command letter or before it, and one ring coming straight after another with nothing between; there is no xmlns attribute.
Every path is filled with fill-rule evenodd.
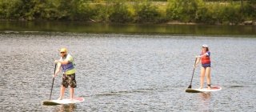
<svg viewBox="0 0 256 112"><path fill-rule="evenodd" d="M53 77L58 75L62 67L62 86L61 86L61 93L58 100L62 100L64 96L65 89L70 86L70 100L74 98L74 88L77 86L75 80L75 70L74 70L74 59L70 54L67 54L66 48L62 48L60 50L61 58L59 60L55 60L54 62L58 64L57 70Z"/></svg>

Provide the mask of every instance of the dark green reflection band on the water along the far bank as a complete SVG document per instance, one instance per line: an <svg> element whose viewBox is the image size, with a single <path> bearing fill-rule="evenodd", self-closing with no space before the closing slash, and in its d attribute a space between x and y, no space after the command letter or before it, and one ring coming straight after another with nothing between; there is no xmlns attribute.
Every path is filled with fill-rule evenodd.
<svg viewBox="0 0 256 112"><path fill-rule="evenodd" d="M70 32L92 34L256 35L256 26L124 25L83 22L0 22L0 32Z"/></svg>

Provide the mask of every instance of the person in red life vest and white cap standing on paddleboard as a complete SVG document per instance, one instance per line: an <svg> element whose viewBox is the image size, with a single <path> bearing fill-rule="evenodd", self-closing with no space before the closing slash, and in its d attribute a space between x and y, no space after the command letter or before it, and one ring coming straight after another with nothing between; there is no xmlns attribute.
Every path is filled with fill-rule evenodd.
<svg viewBox="0 0 256 112"><path fill-rule="evenodd" d="M201 67L201 78L200 78L200 89L203 88L203 83L206 75L207 88L210 90L210 51L207 45L202 45L202 52L197 56L197 62L194 67L202 62Z"/></svg>

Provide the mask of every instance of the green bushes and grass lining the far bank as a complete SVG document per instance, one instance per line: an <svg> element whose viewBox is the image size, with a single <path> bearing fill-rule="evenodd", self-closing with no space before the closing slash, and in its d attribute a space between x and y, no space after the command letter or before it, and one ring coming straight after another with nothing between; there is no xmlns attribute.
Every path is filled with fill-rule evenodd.
<svg viewBox="0 0 256 112"><path fill-rule="evenodd" d="M0 0L2 21L256 25L255 0Z"/></svg>

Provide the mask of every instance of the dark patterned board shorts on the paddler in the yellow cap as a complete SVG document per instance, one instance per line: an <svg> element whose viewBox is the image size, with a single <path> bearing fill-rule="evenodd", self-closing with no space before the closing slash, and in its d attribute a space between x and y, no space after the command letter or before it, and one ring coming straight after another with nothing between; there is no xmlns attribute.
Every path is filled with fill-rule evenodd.
<svg viewBox="0 0 256 112"><path fill-rule="evenodd" d="M67 88L68 86L76 88L77 82L75 81L75 74L63 74L62 86L65 86L65 88Z"/></svg>

